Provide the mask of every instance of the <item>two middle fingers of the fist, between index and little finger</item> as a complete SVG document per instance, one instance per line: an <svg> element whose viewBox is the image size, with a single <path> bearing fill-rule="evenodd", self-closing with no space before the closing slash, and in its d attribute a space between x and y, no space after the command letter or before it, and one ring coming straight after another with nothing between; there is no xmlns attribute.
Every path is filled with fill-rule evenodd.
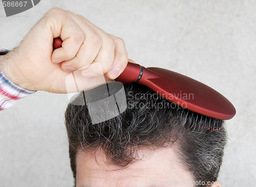
<svg viewBox="0 0 256 187"><path fill-rule="evenodd" d="M70 11L67 13L81 27L86 37L76 56L72 60L63 62L62 68L65 69L68 66L74 69L86 68L81 73L89 77L108 72L115 55L114 39L94 25L89 25L84 17ZM95 68L95 65L90 65L93 61L99 62L97 64L101 66L101 71L99 71L99 67Z"/></svg>

